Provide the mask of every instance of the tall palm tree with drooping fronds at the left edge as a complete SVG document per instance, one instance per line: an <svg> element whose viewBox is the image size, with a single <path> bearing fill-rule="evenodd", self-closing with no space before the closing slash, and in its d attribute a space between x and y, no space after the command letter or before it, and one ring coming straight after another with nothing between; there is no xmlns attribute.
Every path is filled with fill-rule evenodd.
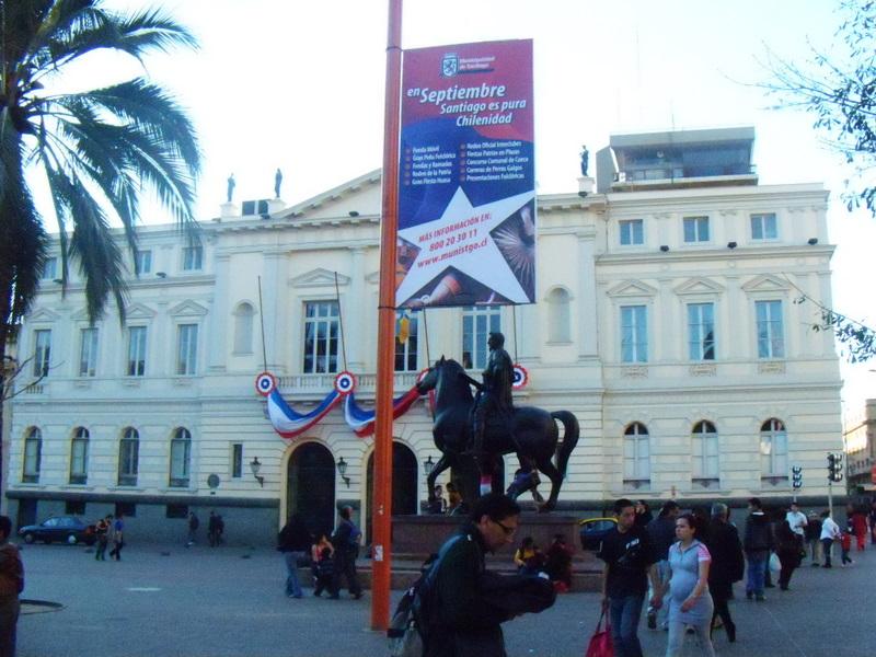
<svg viewBox="0 0 876 657"><path fill-rule="evenodd" d="M143 78L51 92L53 80L95 50L141 60L155 50L197 47L162 11L120 15L104 10L101 0L0 0L0 362L5 362L8 341L37 291L49 243L25 172L44 175L50 191L62 289L72 260L85 283L91 321L101 318L112 295L124 322L125 249L111 226L120 223L135 250L138 204L148 189L195 239L200 152L185 112Z"/></svg>

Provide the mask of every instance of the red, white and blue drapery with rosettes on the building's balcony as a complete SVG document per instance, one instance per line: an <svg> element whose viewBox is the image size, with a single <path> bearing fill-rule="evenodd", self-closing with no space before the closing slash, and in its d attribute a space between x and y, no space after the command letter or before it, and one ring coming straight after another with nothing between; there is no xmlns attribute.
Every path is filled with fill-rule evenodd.
<svg viewBox="0 0 876 657"><path fill-rule="evenodd" d="M267 413L274 430L284 438L296 438L325 417L342 400L344 400L344 418L357 436L364 438L374 433L374 412L366 411L356 404L353 390L356 378L347 371L335 377L335 385L328 394L310 413L298 413L277 390L277 381L270 372L262 372L255 379L258 394L267 397ZM416 385L392 402L392 417L401 417L419 397Z"/></svg>

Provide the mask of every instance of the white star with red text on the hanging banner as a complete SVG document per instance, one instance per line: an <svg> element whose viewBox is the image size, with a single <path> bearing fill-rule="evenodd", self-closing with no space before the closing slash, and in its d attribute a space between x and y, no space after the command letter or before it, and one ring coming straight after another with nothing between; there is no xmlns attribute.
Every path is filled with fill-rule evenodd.
<svg viewBox="0 0 876 657"><path fill-rule="evenodd" d="M512 302L530 302L489 232L529 203L534 195L534 192L525 192L474 207L462 187L459 187L439 219L400 230L399 237L415 244L420 251L395 290L396 306L402 306L423 286L451 266ZM465 226L445 230L446 227L460 222ZM465 235L464 239L460 239L462 234ZM471 251L466 252L466 247ZM463 251L454 253L460 249Z"/></svg>

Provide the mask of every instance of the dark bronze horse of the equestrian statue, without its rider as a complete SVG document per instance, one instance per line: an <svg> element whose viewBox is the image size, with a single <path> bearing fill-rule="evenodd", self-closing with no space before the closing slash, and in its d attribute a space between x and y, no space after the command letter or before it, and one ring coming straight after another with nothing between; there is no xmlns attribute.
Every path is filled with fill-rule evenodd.
<svg viewBox="0 0 876 657"><path fill-rule="evenodd" d="M436 477L448 468L458 465L460 457L469 449L474 397L463 367L443 356L417 383L417 390L420 394L435 390L433 436L435 446L441 450L441 458L426 477L431 499ZM560 429L555 420L563 423L565 429L563 442L558 447ZM556 506L568 459L578 443L578 419L568 411L548 412L534 406L516 406L511 431L514 440L502 427L487 424L484 450L489 454L517 452L520 468L525 472L529 472L534 465L539 472L545 474L551 480L551 495L540 510L550 511ZM556 465L553 463L554 454Z"/></svg>

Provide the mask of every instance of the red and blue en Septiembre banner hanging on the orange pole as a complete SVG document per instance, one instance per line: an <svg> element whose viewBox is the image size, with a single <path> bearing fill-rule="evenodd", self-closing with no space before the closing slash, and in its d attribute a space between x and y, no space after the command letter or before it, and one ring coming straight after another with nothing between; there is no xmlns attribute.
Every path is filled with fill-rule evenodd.
<svg viewBox="0 0 876 657"><path fill-rule="evenodd" d="M395 304L534 303L532 42L406 50Z"/></svg>

